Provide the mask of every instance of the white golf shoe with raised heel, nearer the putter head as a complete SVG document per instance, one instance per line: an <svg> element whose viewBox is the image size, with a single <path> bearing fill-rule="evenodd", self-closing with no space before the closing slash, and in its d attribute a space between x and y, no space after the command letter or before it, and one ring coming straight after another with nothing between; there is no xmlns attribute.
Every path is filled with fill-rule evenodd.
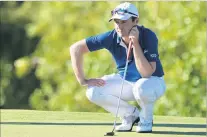
<svg viewBox="0 0 207 137"><path fill-rule="evenodd" d="M132 115L122 118L122 124L116 127L117 132L129 132L135 123L139 122L139 111L136 108Z"/></svg>

